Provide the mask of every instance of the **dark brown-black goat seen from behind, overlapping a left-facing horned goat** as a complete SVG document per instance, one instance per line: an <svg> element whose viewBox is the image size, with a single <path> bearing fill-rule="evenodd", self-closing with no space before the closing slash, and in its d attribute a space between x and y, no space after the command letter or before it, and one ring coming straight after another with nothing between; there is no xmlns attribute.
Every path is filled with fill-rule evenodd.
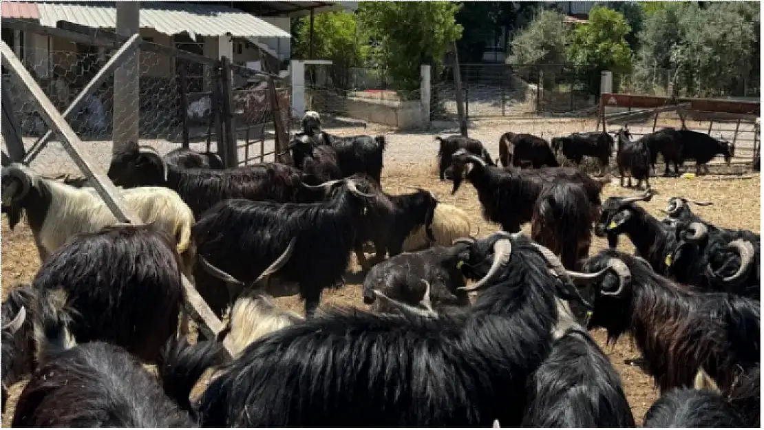
<svg viewBox="0 0 764 430"><path fill-rule="evenodd" d="M572 269L576 261L589 255L597 216L599 207L591 203L580 183L552 183L542 189L533 205L531 235Z"/></svg>

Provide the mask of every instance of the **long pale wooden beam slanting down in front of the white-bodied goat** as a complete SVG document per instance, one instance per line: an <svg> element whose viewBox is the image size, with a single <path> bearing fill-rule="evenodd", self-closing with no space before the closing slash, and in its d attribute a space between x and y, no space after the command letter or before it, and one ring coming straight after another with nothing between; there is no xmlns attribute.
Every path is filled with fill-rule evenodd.
<svg viewBox="0 0 764 430"><path fill-rule="evenodd" d="M121 222L131 222L133 224L141 222L140 218L127 209L125 202L122 202L121 196L112 180L108 179L108 176L93 162L89 154L80 149L79 146L82 142L79 141L79 137L77 137L69 124L66 123L61 114L57 112L53 103L50 102L50 99L47 98L29 72L24 69L21 61L18 60L4 40L0 41L0 53L2 53L4 65L8 67L12 74L18 76L21 82L24 82L24 86L29 89L34 99L37 100L37 104L40 107L38 111L40 116L48 124L48 127L52 128L53 131L62 137L61 143L63 147L66 148L66 151L70 154L77 167L82 170L82 173L92 179L93 188L99 192L99 195L104 200L108 209L112 211L115 218ZM199 329L202 330L204 335L208 338L214 338L222 330L220 320L209 309L207 303L202 299L202 296L199 296L199 293L186 276L181 275L181 279L183 287L186 289L186 297L188 298L186 311L189 312L197 323L200 323Z"/></svg>

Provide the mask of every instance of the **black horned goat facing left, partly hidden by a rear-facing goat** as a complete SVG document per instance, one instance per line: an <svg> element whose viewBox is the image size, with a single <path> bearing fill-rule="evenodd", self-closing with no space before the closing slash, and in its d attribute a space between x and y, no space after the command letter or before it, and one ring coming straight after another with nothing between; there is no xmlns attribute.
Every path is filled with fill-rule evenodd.
<svg viewBox="0 0 764 430"><path fill-rule="evenodd" d="M562 181L580 183L591 205L600 205L600 192L610 181L593 179L574 167L546 167L533 170L504 170L488 166L484 160L458 150L453 156L454 188L467 179L478 190L486 221L497 222L503 231L520 231L523 223L533 218L533 205L544 186Z"/></svg>

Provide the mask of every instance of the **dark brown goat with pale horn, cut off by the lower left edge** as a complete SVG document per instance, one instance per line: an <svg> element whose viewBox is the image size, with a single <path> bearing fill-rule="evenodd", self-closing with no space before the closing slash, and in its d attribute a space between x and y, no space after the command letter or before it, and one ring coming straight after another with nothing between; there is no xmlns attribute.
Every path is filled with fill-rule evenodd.
<svg viewBox="0 0 764 430"><path fill-rule="evenodd" d="M5 400L8 398L8 388L20 381L24 375L34 370L34 338L32 333L32 318L30 312L34 303L34 290L30 285L13 286L8 288L8 298L2 303L2 410L5 411ZM26 317L17 331L11 331L6 325L16 318L21 307L26 311Z"/></svg>

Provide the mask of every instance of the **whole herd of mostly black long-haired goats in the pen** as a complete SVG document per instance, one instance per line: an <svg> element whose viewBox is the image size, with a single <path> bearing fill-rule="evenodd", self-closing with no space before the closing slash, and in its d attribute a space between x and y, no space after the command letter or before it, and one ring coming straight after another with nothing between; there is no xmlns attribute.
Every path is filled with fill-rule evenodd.
<svg viewBox="0 0 764 430"><path fill-rule="evenodd" d="M643 178L660 152L668 171L690 157L683 132L632 143L620 131L619 167ZM87 179L3 167L2 212L11 229L26 214L42 261L2 303L4 410L31 373L12 425L633 427L588 333L604 328L634 339L662 392L644 425L759 426L759 234L713 225L681 197L653 218L636 204L649 186L601 202L609 179L559 167L552 150L605 167L607 133L551 147L504 134L504 168L479 141L439 140L441 179L450 171L454 193L471 183L501 231L475 238L425 189L383 192L384 137L326 133L316 112L293 166L128 145L108 177L144 225L119 224ZM610 249L589 257L593 231ZM616 251L621 234L637 255ZM351 253L371 311L317 312ZM186 340L182 273L228 316L215 338ZM296 293L305 318L272 300Z"/></svg>

